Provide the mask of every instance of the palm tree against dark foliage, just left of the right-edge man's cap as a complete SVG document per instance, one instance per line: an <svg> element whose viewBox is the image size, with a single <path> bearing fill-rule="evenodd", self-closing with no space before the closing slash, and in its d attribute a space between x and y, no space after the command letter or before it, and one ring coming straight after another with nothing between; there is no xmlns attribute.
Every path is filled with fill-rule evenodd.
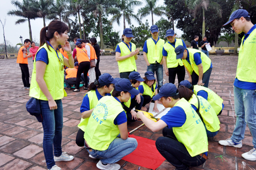
<svg viewBox="0 0 256 170"><path fill-rule="evenodd" d="M196 13L203 10L203 27L202 27L202 37L205 36L205 11L207 11L208 7L214 9L216 13L218 13L219 17L222 17L222 9L220 5L211 0L185 0L185 3L188 5L188 8L191 12L194 13L194 17Z"/></svg>

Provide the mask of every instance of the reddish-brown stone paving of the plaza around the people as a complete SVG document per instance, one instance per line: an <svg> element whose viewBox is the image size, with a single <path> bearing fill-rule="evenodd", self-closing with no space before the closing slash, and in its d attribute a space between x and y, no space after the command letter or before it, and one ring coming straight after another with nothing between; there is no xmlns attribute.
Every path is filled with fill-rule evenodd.
<svg viewBox="0 0 256 170"><path fill-rule="evenodd" d="M252 136L247 127L243 148L223 147L218 144L220 139L232 135L235 123L233 82L237 67L237 56L210 56L213 62L213 72L209 88L224 99L225 108L221 116L221 128L213 141L209 141L209 159L202 166L191 169L253 169L256 162L246 161L241 154L252 149ZM144 75L146 64L142 56L137 60L138 72ZM29 58L29 69L32 73L32 59ZM110 73L119 77L117 62L114 56L102 56L100 61L101 73ZM186 78L188 76L186 75ZM168 82L168 77L164 76ZM30 116L25 104L29 99L28 90L23 89L21 70L16 59L0 60L0 169L47 169L43 155L43 130L41 123ZM176 81L177 82L177 81ZM177 83L176 83L177 84ZM82 89L82 88L81 88ZM63 103L63 139L62 148L75 156L71 162L58 162L62 169L97 169L98 160L88 157L87 151L76 146L75 138L80 122L80 105L87 91L67 90L68 96ZM141 124L140 121L129 123L129 131ZM135 131L136 136L156 140L162 136L161 131L151 132L145 126ZM220 157L223 156L223 161ZM121 160L121 169L138 169L139 166ZM173 169L169 162L164 162L157 169ZM147 169L147 168L141 168Z"/></svg>

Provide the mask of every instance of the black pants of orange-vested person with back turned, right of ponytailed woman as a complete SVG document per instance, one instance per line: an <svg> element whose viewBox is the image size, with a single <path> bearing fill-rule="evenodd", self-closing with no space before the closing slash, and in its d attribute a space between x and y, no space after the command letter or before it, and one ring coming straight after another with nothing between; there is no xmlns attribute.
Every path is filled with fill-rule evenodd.
<svg viewBox="0 0 256 170"><path fill-rule="evenodd" d="M80 78L83 73L83 77L85 77L85 82L88 82L87 73L90 69L90 62L81 62L79 63L77 74L76 74L76 89L80 89ZM85 87L88 87L88 84L85 83Z"/></svg>

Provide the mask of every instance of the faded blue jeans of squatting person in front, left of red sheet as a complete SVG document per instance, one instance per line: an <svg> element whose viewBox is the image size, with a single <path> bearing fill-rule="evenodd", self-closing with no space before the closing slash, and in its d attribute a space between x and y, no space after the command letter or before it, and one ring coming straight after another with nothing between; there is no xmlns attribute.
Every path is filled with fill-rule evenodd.
<svg viewBox="0 0 256 170"><path fill-rule="evenodd" d="M135 138L121 139L116 138L112 141L105 151L97 151L92 149L89 154L95 158L101 159L102 163L116 163L120 161L127 154L132 153L137 148L137 141Z"/></svg>

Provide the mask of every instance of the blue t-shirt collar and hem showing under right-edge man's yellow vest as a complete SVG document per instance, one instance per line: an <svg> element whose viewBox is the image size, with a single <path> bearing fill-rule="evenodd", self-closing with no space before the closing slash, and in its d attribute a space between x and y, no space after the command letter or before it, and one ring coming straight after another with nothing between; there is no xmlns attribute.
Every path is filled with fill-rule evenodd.
<svg viewBox="0 0 256 170"><path fill-rule="evenodd" d="M244 45L245 39L249 37L249 34L252 33L255 28L256 28L256 24L252 28L250 28L247 34L244 34L243 45ZM249 89L249 90L256 89L256 83L240 81L238 78L235 78L234 86L242 89Z"/></svg>

